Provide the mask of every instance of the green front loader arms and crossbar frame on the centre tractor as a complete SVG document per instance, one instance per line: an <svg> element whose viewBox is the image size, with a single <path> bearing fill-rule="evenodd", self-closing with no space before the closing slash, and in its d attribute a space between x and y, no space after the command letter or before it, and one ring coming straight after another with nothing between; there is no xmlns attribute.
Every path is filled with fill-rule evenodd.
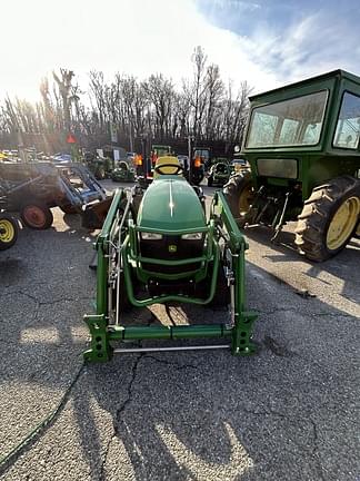
<svg viewBox="0 0 360 481"><path fill-rule="evenodd" d="M139 230L139 226L134 224L131 193L127 195L124 190L117 190L96 244L98 252L97 312L96 314L84 316L84 322L89 327L91 336L90 346L83 353L84 360L88 362L106 362L117 352L154 350L153 347L131 350L114 349L112 346L114 341L142 340L226 338L227 344L220 346L182 346L169 347L168 350L228 347L231 349L233 355L253 354L256 352L256 345L251 340L252 325L258 314L246 308L244 252L248 245L232 217L223 194L221 192L216 193L212 200L210 219L204 229L208 236L208 244L204 248L203 256L201 258L181 261L183 264L193 263L194 261L200 263L201 267L194 274L198 275L199 279L206 275L211 264L211 282L209 292L204 298L180 295L178 293L159 296L149 295L146 298L138 298L136 296L131 269L134 269L140 279L146 279L148 275L147 271L142 267L143 259L136 248ZM184 233L187 232L184 230ZM153 265L171 264L170 261L156 258L151 259L151 262ZM116 269L111 271L111 265L113 264L116 264ZM111 289L109 289L109 287L113 282L113 277L117 277L114 283L117 288L119 288L119 282L117 281L122 278L128 298L130 303L137 307L167 302L206 305L211 302L214 295L219 268L224 268L231 292L231 307L229 321L227 323L212 325L131 326L121 324L121 312L119 312L118 301L116 310L111 311L110 308L111 302L109 301L109 291ZM111 292L113 292L113 289ZM156 350L162 351L166 349L160 347Z"/></svg>

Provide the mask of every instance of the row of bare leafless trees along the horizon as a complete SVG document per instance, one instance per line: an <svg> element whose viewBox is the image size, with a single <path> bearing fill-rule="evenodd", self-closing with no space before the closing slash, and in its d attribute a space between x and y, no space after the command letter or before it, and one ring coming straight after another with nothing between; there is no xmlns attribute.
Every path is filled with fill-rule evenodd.
<svg viewBox="0 0 360 481"><path fill-rule="evenodd" d="M107 141L112 122L131 149L143 134L159 141L191 132L197 140L226 140L228 146L241 143L249 85L244 81L236 89L229 82L226 87L219 67L207 65L201 47L194 49L191 61L193 76L183 79L179 90L161 73L143 81L116 73L107 82L101 71L92 70L90 104L82 101L84 92L74 72L60 69L52 73L52 81L41 80L36 105L9 97L0 102L0 134L8 132L13 139L19 132L64 138L71 130L93 145Z"/></svg>

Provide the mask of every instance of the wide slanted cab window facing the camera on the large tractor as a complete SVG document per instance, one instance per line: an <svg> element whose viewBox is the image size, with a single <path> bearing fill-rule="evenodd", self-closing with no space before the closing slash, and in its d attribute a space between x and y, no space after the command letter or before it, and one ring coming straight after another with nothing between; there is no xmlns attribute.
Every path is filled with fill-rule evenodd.
<svg viewBox="0 0 360 481"><path fill-rule="evenodd" d="M256 107L247 137L248 148L317 145L328 92L322 90Z"/></svg>

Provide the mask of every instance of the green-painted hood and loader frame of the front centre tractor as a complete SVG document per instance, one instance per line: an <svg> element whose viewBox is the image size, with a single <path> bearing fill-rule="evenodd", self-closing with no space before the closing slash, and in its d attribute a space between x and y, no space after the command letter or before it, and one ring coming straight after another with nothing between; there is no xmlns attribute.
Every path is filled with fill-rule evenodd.
<svg viewBox="0 0 360 481"><path fill-rule="evenodd" d="M171 178L170 178L171 177ZM176 208L169 215L168 199L170 184ZM150 195L148 195L150 193ZM229 337L233 355L249 355L254 352L251 342L252 324L257 314L246 310L244 289L244 252L248 248L243 235L240 233L222 193L214 195L209 220L206 220L199 198L193 189L184 181L163 176L156 180L144 194L138 218L123 218L126 195L122 190L114 194L103 228L98 237L98 272L97 272L97 314L87 315L86 323L90 331L90 346L84 352L88 362L104 362L111 359L112 342L131 340L180 340ZM131 203L131 200L129 200ZM120 208L121 207L121 208ZM130 207L130 205L128 205ZM126 210L127 208L126 207ZM150 208L151 207L151 208ZM154 210L156 209L156 210ZM157 213L157 215L154 215ZM167 259L161 252L154 257L142 257L139 248L141 232L153 232L163 235L181 235L201 232L206 236L202 255ZM220 245L220 238L222 244ZM117 247L117 248L116 248ZM114 251L116 248L116 251ZM227 252L224 261L223 252ZM117 253L114 257L114 252ZM178 251L179 252L179 251ZM109 279L113 259L121 259L123 272L122 282L130 303L134 307L144 307L156 303L183 302L190 304L209 304L217 289L218 272L224 262L233 272L234 312L233 325L206 324L181 326L123 326L113 322L111 303L109 302ZM147 271L144 265L151 266L153 272ZM194 265L194 269L187 272L187 264ZM178 273L161 273L161 268L179 267ZM159 282L181 281L200 285L208 279L204 297L180 294L176 289L160 295L139 297L134 292L133 275L146 288L149 279ZM204 313L206 315L206 313ZM209 313L210 315L210 313Z"/></svg>

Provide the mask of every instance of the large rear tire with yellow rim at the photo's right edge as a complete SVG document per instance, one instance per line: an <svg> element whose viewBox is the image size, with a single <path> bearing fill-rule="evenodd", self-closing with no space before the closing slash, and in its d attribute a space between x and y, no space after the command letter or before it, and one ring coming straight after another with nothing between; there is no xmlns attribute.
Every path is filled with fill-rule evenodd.
<svg viewBox="0 0 360 481"><path fill-rule="evenodd" d="M298 217L296 244L310 261L326 261L342 251L356 234L360 181L338 177L316 187Z"/></svg>

